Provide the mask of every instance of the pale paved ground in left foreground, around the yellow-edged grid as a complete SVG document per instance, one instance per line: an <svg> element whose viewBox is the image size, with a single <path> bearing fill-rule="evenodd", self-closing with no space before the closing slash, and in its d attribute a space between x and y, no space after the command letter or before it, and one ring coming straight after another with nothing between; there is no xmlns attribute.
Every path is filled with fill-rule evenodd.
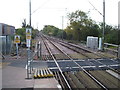
<svg viewBox="0 0 120 90"><path fill-rule="evenodd" d="M24 59L4 60L4 63L9 64L0 68L3 90L44 90L46 88L49 90L61 90L58 81L54 77L34 79L33 75L31 75L31 79L27 79L26 62L27 60ZM43 68L46 67L46 63L43 62L36 66Z"/></svg>

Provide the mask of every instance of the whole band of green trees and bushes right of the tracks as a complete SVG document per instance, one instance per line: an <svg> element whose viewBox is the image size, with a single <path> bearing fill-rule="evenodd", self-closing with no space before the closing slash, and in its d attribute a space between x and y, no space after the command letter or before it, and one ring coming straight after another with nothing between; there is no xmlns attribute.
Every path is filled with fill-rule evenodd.
<svg viewBox="0 0 120 90"><path fill-rule="evenodd" d="M87 13L77 10L68 14L68 19L70 24L65 30L46 25L42 32L58 38L76 41L86 41L87 36L102 37L103 24L97 24L88 17ZM116 27L106 25L105 42L120 44L120 30Z"/></svg>

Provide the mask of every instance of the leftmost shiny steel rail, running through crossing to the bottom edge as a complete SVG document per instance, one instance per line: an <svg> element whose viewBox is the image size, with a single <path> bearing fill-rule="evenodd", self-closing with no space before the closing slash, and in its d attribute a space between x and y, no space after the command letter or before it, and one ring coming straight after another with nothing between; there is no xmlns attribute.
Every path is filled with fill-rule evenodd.
<svg viewBox="0 0 120 90"><path fill-rule="evenodd" d="M41 37L41 38L42 38L42 37ZM43 38L42 38L42 39L43 39ZM46 43L44 40L43 40L43 43L45 44L45 46L46 46L48 52L49 52L50 55L52 56L52 58L53 58L55 64L57 65L57 67L58 67L58 69L59 69L59 71L60 71L60 73L61 73L61 75L62 75L62 77L63 77L63 79L65 80L65 83L67 84L68 88L69 88L70 90L72 90L72 88L71 88L71 86L69 85L67 79L65 78L65 76L64 76L64 74L63 74L63 72L62 72L62 70L61 70L61 68L60 68L60 66L59 66L59 64L57 63L57 61L56 61L54 55L52 54L52 52L51 52L51 50L50 50L50 47L49 47L48 45L46 45L47 43Z"/></svg>

